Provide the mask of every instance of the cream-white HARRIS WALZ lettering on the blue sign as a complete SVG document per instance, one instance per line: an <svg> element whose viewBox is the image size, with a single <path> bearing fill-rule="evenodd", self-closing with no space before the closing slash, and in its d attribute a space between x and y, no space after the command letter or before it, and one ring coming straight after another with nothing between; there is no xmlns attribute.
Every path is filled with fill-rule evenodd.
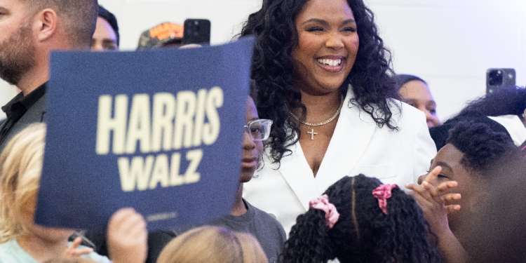
<svg viewBox="0 0 526 263"><path fill-rule="evenodd" d="M156 93L131 97L101 95L97 113L97 141L95 151L106 155L141 154L180 150L214 144L220 134L223 91L219 87L200 89L195 93L182 90L177 94ZM150 101L152 103L150 103ZM152 104L152 105L150 105ZM170 156L120 157L119 175L123 191L173 187L198 182L198 166L203 159L202 149L187 151L186 172L180 174L181 154Z"/></svg>

